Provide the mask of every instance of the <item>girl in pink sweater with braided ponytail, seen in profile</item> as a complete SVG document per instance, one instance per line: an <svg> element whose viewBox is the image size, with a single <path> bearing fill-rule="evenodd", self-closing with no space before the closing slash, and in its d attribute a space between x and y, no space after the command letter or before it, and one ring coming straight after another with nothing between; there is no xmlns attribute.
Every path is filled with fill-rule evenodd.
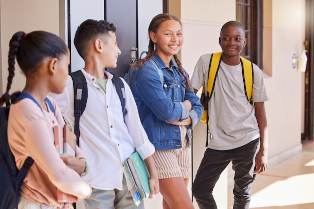
<svg viewBox="0 0 314 209"><path fill-rule="evenodd" d="M8 85L0 105L20 94L9 94L15 59L26 76L21 94L29 97L10 106L8 141L19 169L28 156L34 159L22 184L18 207L73 208L71 202L91 193L91 187L80 176L86 171L87 161L79 147L76 156L57 151L53 127L63 127L65 122L55 100L47 95L64 91L69 49L59 36L50 32L16 32L10 40ZM68 198L58 199L57 190Z"/></svg>

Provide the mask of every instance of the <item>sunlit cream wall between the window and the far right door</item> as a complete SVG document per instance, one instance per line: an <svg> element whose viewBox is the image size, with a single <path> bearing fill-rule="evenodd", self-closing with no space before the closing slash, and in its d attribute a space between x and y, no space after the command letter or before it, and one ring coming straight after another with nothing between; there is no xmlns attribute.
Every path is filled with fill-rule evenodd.
<svg viewBox="0 0 314 209"><path fill-rule="evenodd" d="M303 111L302 86L304 72L292 68L292 54L304 49L304 0L264 0L271 9L264 16L271 17L264 27L265 76L270 100L266 104L269 127L269 163L277 163L301 148L301 120ZM273 11L273 12L271 12ZM268 43L267 40L271 42ZM266 52L266 53L265 53ZM267 56L268 54L268 56ZM270 56L269 56L270 54Z"/></svg>

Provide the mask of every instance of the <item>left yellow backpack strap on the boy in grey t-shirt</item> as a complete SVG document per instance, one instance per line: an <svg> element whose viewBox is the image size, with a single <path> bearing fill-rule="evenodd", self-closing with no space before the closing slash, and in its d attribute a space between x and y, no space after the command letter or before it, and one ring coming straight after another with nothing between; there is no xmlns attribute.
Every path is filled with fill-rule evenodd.
<svg viewBox="0 0 314 209"><path fill-rule="evenodd" d="M217 71L219 69L220 61L221 61L221 54L222 52L213 53L211 60L209 62L209 72L208 72L208 83L207 83L207 92L208 92L208 99L212 96L215 80L217 77Z"/></svg>

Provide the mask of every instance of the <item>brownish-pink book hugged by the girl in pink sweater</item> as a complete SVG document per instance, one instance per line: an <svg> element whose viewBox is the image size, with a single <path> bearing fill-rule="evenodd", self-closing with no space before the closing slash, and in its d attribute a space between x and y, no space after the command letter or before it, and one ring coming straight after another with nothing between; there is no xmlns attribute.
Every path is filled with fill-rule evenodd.
<svg viewBox="0 0 314 209"><path fill-rule="evenodd" d="M56 125L53 127L55 146L60 154L76 153L76 135L71 131L68 125ZM74 136L73 136L74 135ZM71 194L63 193L57 188L58 202L73 202L77 201L77 197Z"/></svg>

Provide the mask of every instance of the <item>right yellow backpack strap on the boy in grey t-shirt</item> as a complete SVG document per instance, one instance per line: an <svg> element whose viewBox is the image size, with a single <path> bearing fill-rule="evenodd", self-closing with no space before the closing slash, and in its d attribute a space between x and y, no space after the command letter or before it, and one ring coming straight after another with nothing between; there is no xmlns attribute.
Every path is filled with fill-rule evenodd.
<svg viewBox="0 0 314 209"><path fill-rule="evenodd" d="M242 75L244 81L244 90L247 100L250 104L253 104L252 101L252 89L253 89L253 64L250 60L240 56L241 65L242 65Z"/></svg>

